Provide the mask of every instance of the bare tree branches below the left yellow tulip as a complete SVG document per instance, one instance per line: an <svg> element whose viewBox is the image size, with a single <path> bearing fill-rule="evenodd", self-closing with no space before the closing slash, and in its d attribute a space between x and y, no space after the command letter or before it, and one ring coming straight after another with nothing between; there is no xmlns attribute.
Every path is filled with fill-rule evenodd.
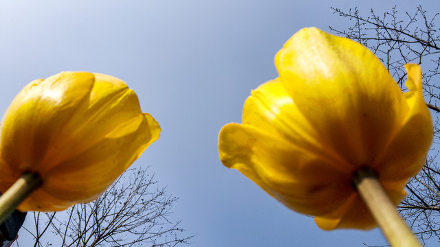
<svg viewBox="0 0 440 247"><path fill-rule="evenodd" d="M28 213L34 226L23 227L15 246L178 246L190 244L179 222L170 222L177 198L157 187L146 169L130 169L94 202L58 213ZM24 236L25 234L30 235ZM51 234L52 233L52 234Z"/></svg>

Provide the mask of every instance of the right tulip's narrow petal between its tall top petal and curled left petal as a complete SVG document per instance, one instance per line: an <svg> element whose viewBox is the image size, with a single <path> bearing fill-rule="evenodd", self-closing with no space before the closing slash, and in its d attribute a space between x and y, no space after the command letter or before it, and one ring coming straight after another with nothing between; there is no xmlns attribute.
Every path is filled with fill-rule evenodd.
<svg viewBox="0 0 440 247"><path fill-rule="evenodd" d="M331 161L342 172L354 172L351 164L322 145L318 133L298 110L278 79L261 84L252 91L243 108L243 124L249 124L296 145L300 143L301 148Z"/></svg>

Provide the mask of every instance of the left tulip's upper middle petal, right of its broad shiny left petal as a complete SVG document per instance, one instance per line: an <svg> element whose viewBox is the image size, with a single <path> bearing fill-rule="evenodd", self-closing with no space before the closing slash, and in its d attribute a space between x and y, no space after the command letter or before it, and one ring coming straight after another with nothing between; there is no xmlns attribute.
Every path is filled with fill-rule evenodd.
<svg viewBox="0 0 440 247"><path fill-rule="evenodd" d="M76 114L59 132L58 139L45 156L44 162L51 164L45 165L45 170L96 145L120 124L140 117L140 113L137 95L124 82L109 75L96 74L89 98L78 106ZM72 146L76 148L72 150Z"/></svg>

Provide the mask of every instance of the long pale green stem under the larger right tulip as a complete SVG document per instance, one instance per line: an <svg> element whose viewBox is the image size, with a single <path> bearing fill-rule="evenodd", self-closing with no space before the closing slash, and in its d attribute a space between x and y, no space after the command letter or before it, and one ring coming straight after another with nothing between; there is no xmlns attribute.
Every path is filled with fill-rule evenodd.
<svg viewBox="0 0 440 247"><path fill-rule="evenodd" d="M421 247L419 240L397 213L373 170L360 169L355 173L353 182L391 246Z"/></svg>

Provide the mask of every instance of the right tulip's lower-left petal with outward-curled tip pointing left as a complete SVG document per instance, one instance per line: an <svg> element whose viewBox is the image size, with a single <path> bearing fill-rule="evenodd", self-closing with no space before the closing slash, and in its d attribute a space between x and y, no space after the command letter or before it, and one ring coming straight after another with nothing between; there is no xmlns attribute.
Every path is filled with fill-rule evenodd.
<svg viewBox="0 0 440 247"><path fill-rule="evenodd" d="M300 213L328 213L354 192L350 176L316 154L248 125L224 126L219 154L223 165L238 169Z"/></svg>

